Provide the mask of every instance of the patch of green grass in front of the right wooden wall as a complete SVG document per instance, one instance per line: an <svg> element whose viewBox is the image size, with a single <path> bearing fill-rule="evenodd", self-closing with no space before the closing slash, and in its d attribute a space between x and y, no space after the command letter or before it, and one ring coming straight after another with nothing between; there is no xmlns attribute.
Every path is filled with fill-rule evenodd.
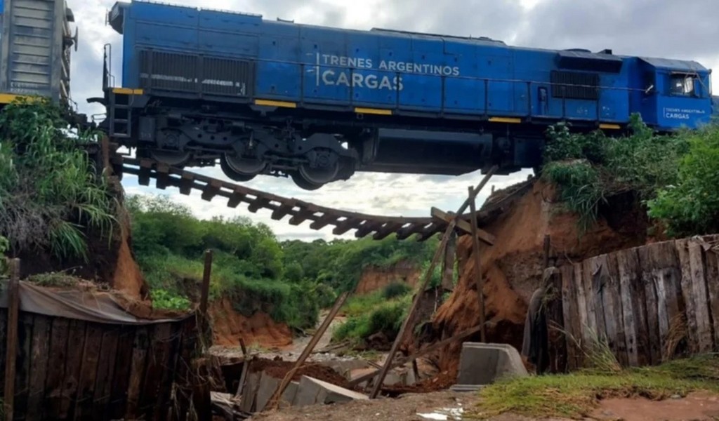
<svg viewBox="0 0 719 421"><path fill-rule="evenodd" d="M719 355L669 361L661 366L586 370L574 374L503 379L482 389L471 417L488 418L510 412L527 417L590 415L600 399L645 397L666 399L694 391L719 392Z"/></svg>

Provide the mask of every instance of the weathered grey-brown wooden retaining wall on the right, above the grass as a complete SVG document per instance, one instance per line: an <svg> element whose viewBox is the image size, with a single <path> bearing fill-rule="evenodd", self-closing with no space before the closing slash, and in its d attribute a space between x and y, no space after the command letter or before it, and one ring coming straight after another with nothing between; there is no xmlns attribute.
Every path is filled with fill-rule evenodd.
<svg viewBox="0 0 719 421"><path fill-rule="evenodd" d="M576 369L579 344L605 338L623 366L659 364L675 351L719 350L719 236L665 241L567 264L554 275L555 367ZM555 336L556 338L556 336Z"/></svg>

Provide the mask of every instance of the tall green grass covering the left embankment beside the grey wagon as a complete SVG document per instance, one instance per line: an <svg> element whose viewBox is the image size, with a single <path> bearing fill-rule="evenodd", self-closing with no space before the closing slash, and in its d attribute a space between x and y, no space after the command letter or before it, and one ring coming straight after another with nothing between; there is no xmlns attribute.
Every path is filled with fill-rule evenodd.
<svg viewBox="0 0 719 421"><path fill-rule="evenodd" d="M70 126L44 99L17 101L0 112L0 241L55 259L88 260L93 231L109 241L118 211L103 177L81 145L93 131Z"/></svg>

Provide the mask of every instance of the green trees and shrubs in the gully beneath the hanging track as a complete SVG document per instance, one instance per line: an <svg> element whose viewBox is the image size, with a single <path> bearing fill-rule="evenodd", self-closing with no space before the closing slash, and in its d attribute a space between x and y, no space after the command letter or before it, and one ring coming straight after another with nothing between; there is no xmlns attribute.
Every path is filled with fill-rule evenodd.
<svg viewBox="0 0 719 421"><path fill-rule="evenodd" d="M196 300L203 253L214 252L211 300L228 297L237 312L256 311L292 328L316 324L319 310L352 291L368 265L429 259L433 241L279 241L247 218L200 220L166 197L131 196L133 249L155 307L183 309Z"/></svg>

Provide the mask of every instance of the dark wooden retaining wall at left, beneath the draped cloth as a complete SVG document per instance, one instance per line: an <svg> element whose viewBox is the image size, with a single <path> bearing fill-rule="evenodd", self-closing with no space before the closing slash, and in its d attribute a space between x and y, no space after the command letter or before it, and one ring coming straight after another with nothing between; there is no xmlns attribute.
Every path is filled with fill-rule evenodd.
<svg viewBox="0 0 719 421"><path fill-rule="evenodd" d="M7 314L0 309L3 339ZM197 334L193 317L116 325L23 311L17 332L14 420L168 420ZM3 378L6 353L0 341Z"/></svg>

